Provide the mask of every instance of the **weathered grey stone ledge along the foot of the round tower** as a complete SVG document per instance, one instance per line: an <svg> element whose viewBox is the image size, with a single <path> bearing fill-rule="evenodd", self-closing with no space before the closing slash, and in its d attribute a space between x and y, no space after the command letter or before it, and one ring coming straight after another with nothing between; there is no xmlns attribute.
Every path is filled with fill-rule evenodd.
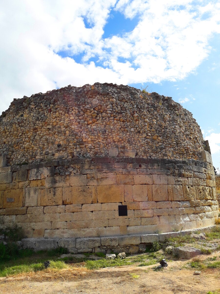
<svg viewBox="0 0 220 294"><path fill-rule="evenodd" d="M154 241L164 241L166 238L170 238L171 236L175 237L179 234L187 235L190 233L195 233L197 231L200 232L208 232L214 225L184 230L179 232L168 232L168 233L160 233L160 234L143 234L143 235L130 235L130 236L110 236L110 237L98 237L98 238L24 238L21 240L22 248L30 248L34 250L49 250L55 249L57 247L65 247L71 253L80 253L80 252L102 252L107 249L112 250L131 250L134 245L139 245L139 252L144 252L143 247L145 244L153 243ZM145 249L144 249L145 250Z"/></svg>

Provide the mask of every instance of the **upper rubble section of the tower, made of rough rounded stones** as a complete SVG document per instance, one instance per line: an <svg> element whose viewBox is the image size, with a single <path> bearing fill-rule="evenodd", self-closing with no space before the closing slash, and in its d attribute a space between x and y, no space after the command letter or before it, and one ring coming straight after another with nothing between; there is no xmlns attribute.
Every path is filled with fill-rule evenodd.
<svg viewBox="0 0 220 294"><path fill-rule="evenodd" d="M201 159L205 148L192 113L171 97L107 83L14 99L0 116L0 133L7 165L92 156Z"/></svg>

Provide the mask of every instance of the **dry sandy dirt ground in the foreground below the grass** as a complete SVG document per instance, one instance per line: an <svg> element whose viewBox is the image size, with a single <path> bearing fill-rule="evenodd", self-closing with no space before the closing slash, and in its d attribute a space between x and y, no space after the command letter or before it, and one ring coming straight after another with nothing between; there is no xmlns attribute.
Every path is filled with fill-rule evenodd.
<svg viewBox="0 0 220 294"><path fill-rule="evenodd" d="M220 288L219 270L202 270L201 275L194 275L195 269L183 268L188 262L173 261L162 271L155 271L155 265L81 269L69 281L61 278L38 282L36 276L1 278L0 294L206 294Z"/></svg>

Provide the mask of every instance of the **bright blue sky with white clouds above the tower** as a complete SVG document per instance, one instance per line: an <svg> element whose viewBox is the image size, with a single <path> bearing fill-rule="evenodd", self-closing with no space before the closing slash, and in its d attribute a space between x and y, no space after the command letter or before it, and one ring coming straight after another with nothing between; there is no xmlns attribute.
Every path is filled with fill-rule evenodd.
<svg viewBox="0 0 220 294"><path fill-rule="evenodd" d="M4 2L0 112L13 98L112 82L193 113L220 168L220 1Z"/></svg>

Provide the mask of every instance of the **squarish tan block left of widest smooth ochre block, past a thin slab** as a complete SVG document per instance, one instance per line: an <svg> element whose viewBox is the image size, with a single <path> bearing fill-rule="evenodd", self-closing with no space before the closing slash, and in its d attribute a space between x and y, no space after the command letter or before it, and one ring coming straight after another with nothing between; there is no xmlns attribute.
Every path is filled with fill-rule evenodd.
<svg viewBox="0 0 220 294"><path fill-rule="evenodd" d="M73 204L92 203L92 186L72 187Z"/></svg>

